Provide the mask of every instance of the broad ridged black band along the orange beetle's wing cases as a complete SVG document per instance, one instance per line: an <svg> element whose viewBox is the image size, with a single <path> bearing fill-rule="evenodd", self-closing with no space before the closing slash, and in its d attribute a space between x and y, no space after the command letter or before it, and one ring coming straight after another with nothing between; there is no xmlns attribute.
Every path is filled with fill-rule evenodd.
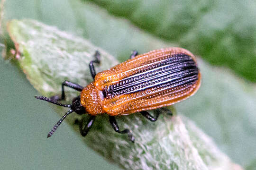
<svg viewBox="0 0 256 170"><path fill-rule="evenodd" d="M156 64L155 64L156 63ZM194 83L198 79L198 68L194 60L187 55L174 56L151 63L157 67L134 74L118 83L110 85L105 93L113 97L125 93L135 93L148 88L171 88L176 85Z"/></svg>

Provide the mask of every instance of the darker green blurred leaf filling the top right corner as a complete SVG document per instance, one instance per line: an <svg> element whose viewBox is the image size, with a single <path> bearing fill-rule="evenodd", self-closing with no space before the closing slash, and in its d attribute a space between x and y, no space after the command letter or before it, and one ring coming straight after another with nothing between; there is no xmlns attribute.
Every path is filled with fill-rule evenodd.
<svg viewBox="0 0 256 170"><path fill-rule="evenodd" d="M254 0L89 0L256 82Z"/></svg>

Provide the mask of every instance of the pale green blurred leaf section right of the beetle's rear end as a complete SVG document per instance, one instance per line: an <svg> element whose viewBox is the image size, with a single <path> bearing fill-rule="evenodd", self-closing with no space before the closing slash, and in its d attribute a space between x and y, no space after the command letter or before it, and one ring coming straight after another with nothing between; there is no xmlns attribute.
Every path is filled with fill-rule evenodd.
<svg viewBox="0 0 256 170"><path fill-rule="evenodd" d="M230 158L248 166L256 153L256 88L227 68L213 68L199 60L202 84L195 96L178 103L177 110L214 136Z"/></svg>

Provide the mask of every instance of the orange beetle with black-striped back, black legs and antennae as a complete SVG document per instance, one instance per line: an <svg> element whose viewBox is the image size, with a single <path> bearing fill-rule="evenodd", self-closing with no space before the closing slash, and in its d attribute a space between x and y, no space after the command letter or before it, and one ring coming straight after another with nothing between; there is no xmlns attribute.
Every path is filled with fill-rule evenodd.
<svg viewBox="0 0 256 170"><path fill-rule="evenodd" d="M119 130L115 116L140 112L146 119L154 122L160 114L157 109L192 96L201 84L201 73L195 57L183 48L171 47L141 55L133 51L127 61L98 74L95 72L94 64L100 63L100 53L96 51L94 57L89 64L94 81L86 87L64 81L61 98L58 95L51 98L35 96L37 99L70 108L47 137L52 136L72 112L90 115L85 127L80 124L82 136L87 135L95 116L107 113L114 130L120 134L127 134L129 140L134 142L135 139L129 129ZM65 99L64 86L81 92L73 99L72 104L57 102ZM155 117L147 112L154 109Z"/></svg>

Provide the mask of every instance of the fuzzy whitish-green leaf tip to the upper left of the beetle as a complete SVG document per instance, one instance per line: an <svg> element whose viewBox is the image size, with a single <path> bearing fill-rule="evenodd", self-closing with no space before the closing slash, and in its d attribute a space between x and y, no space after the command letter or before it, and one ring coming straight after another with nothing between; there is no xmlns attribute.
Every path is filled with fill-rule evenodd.
<svg viewBox="0 0 256 170"><path fill-rule="evenodd" d="M44 95L61 93L60 85L66 79L82 85L92 81L89 67L85 69L84 66L89 66L96 50L101 51L104 63L101 70L118 63L90 42L39 22L15 20L8 24L8 31L22 53L18 60L20 67L31 84Z"/></svg>

